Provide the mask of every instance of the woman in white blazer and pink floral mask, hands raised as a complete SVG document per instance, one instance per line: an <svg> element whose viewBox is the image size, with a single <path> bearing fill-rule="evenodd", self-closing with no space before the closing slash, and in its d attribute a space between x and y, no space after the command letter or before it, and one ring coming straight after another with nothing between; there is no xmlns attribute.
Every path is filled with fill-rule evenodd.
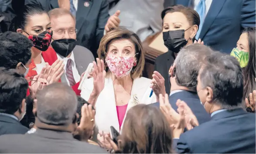
<svg viewBox="0 0 256 154"><path fill-rule="evenodd" d="M108 133L110 126L120 131L131 107L157 102L155 93L160 93L162 84L159 78L152 82L141 77L145 63L142 43L127 29L114 29L103 36L98 56L101 60L93 62L93 78L83 83L81 97L95 106L99 133Z"/></svg>

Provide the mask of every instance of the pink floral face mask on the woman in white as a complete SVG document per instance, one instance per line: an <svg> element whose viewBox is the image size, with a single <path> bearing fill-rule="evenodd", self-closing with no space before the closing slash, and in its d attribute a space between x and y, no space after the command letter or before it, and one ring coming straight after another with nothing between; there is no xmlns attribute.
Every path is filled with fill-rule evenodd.
<svg viewBox="0 0 256 154"><path fill-rule="evenodd" d="M133 66L137 65L136 59L134 56L132 57L107 56L106 63L109 67L109 70L112 73L114 73L116 77L123 78L131 72Z"/></svg>

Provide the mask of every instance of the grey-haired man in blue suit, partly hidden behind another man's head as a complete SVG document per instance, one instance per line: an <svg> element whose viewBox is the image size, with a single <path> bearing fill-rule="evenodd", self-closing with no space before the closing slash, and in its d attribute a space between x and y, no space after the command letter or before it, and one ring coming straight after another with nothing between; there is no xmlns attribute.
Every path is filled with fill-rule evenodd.
<svg viewBox="0 0 256 154"><path fill-rule="evenodd" d="M212 49L201 44L191 44L181 49L174 63L175 75L170 77L171 93L169 102L177 111L176 102L178 99L184 101L191 108L198 119L199 124L210 120L210 115L201 105L200 99L196 92L197 76L201 63L205 56L212 53ZM150 104L159 108L159 102Z"/></svg>

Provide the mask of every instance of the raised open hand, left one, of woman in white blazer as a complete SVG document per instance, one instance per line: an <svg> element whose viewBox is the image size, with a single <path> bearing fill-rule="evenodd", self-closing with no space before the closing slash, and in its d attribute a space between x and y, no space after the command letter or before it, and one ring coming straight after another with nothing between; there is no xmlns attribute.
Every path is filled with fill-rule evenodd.
<svg viewBox="0 0 256 154"><path fill-rule="evenodd" d="M105 85L105 78L106 78L106 71L104 69L104 62L103 60L99 60L96 58L96 62L93 62L93 70L92 70L92 77L93 77L93 95L99 95L102 92L104 85Z"/></svg>

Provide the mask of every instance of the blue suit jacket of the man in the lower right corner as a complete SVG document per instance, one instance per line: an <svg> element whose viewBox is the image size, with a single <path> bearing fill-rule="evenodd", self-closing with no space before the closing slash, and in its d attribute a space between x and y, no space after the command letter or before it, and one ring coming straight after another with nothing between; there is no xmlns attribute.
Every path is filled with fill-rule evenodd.
<svg viewBox="0 0 256 154"><path fill-rule="evenodd" d="M181 134L177 153L255 154L255 114L242 108L222 111L190 131Z"/></svg>

